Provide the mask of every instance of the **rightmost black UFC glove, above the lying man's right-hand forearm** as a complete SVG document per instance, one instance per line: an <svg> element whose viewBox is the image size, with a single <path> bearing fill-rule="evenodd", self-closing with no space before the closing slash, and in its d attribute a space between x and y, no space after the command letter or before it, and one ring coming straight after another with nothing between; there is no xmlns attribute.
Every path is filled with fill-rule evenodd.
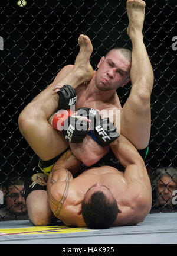
<svg viewBox="0 0 177 256"><path fill-rule="evenodd" d="M100 122L96 122L92 137L101 146L105 146L109 145L119 136L117 128L109 121L109 118L106 117L101 119Z"/></svg>

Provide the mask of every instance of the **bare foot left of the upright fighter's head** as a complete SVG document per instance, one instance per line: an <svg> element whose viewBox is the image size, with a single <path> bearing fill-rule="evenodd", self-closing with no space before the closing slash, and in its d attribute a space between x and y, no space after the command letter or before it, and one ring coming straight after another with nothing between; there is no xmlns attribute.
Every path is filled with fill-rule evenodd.
<svg viewBox="0 0 177 256"><path fill-rule="evenodd" d="M83 34L78 37L78 44L80 46L80 52L74 62L73 71L79 72L79 74L84 77L83 82L88 82L94 75L93 68L90 65L90 56L93 52L93 46L89 37Z"/></svg>

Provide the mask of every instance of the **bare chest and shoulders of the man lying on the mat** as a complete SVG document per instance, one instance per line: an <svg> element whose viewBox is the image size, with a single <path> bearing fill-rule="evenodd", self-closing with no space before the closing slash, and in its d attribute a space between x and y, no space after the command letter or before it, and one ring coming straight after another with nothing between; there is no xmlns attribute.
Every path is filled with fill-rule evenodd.
<svg viewBox="0 0 177 256"><path fill-rule="evenodd" d="M121 213L117 215L115 226L135 225L142 222L148 214L147 209L141 211L136 205L137 194L140 193L137 186L131 187L124 177L124 173L114 167L94 167L84 171L77 178L70 182L65 203L62 206L59 219L67 225L84 226L83 217L78 215L84 194L96 182L106 185L117 200L117 205ZM66 183L58 184L58 196L63 197ZM53 209L54 212L54 209Z"/></svg>

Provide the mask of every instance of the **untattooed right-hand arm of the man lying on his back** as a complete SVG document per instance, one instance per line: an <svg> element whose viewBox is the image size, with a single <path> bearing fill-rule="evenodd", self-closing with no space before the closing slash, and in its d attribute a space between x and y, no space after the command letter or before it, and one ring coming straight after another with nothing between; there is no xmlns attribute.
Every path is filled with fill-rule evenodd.
<svg viewBox="0 0 177 256"><path fill-rule="evenodd" d="M120 137L113 142L111 148L119 159L120 163L126 167L124 178L128 183L127 197L129 207L127 207L127 225L134 225L142 222L148 215L152 206L152 188L145 163L136 148L125 137ZM117 218L115 225L119 224Z"/></svg>

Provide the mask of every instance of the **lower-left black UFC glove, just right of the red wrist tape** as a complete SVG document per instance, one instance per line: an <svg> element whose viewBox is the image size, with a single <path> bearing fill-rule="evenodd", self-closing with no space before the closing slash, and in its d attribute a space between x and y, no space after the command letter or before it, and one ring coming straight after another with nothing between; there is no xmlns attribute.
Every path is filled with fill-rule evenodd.
<svg viewBox="0 0 177 256"><path fill-rule="evenodd" d="M89 121L86 120L87 112L83 108L77 110L64 121L63 134L65 139L71 143L81 143L89 132Z"/></svg>

